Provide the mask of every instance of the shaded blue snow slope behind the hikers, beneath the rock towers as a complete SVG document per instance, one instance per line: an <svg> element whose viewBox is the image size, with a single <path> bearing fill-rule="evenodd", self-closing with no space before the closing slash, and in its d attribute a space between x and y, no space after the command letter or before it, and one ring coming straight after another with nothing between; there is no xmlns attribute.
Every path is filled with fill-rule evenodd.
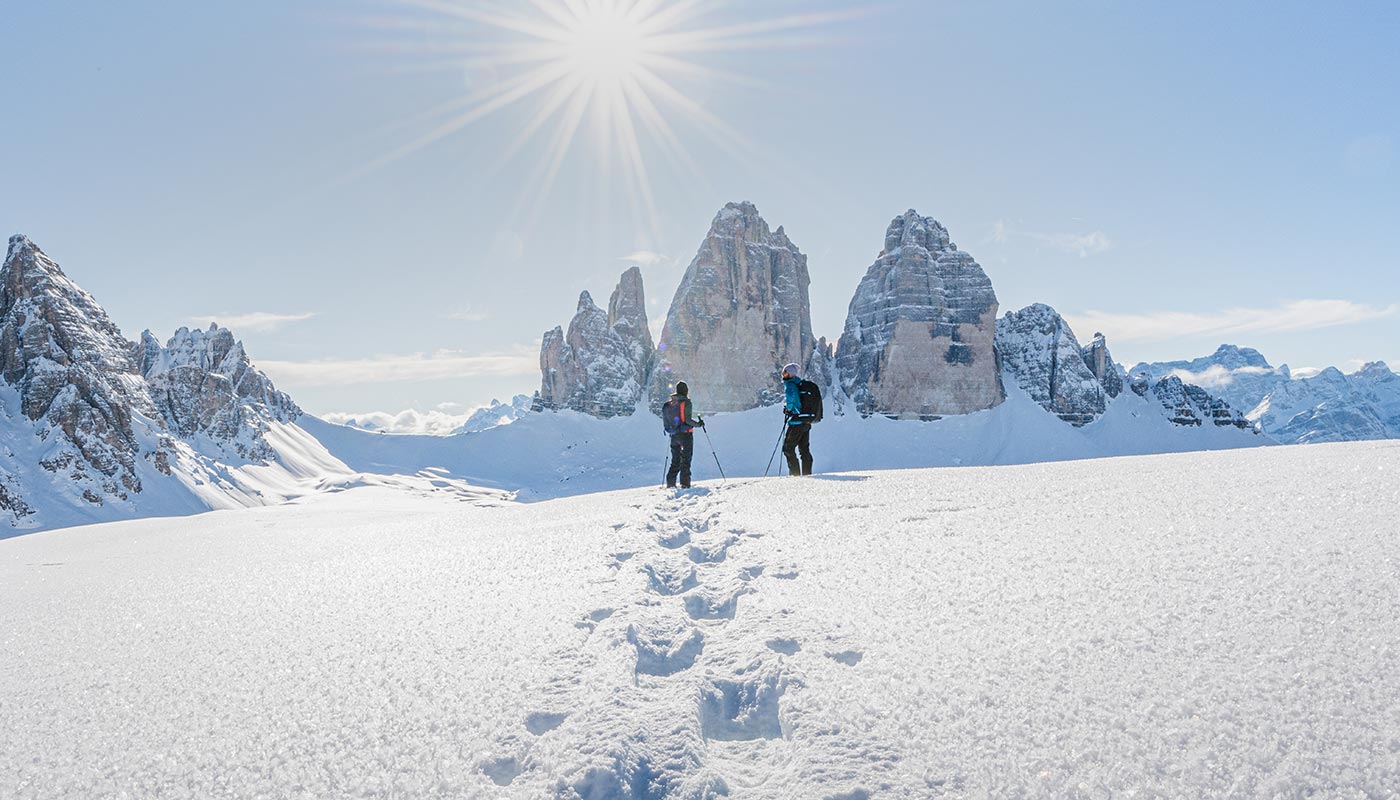
<svg viewBox="0 0 1400 800"><path fill-rule="evenodd" d="M692 394L704 415L706 398ZM1124 392L1092 425L1075 429L1046 412L1014 380L1005 404L937 422L832 415L816 425L818 472L913 467L1029 464L1149 453L1183 453L1270 444L1236 429L1187 429L1168 420L1162 405ZM760 476L783 429L780 408L707 415L696 432L696 479ZM525 415L512 425L465 436L395 436L300 420L337 460L361 472L416 474L426 468L479 486L519 490L539 500L659 483L669 443L661 422L644 411L613 419L573 412ZM714 446L711 454L710 443ZM783 455L773 472L785 469Z"/></svg>

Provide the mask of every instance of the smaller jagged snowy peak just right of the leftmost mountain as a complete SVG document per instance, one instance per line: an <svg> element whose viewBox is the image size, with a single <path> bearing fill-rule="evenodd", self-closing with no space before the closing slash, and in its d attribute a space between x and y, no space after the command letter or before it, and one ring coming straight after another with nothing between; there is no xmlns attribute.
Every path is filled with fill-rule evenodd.
<svg viewBox="0 0 1400 800"><path fill-rule="evenodd" d="M225 328L181 328L164 347L146 331L140 352L151 399L181 439L202 436L238 458L266 461L274 457L263 439L269 423L301 416Z"/></svg>

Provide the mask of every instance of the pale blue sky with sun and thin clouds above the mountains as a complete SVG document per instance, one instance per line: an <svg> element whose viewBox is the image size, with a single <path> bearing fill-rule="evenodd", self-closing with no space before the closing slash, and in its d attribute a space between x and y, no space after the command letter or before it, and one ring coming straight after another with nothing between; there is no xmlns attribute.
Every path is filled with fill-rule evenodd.
<svg viewBox="0 0 1400 800"><path fill-rule="evenodd" d="M1400 368L1400 4L570 1L14 3L0 231L321 415L532 392L631 263L659 329L731 200L832 340L913 207L1126 364Z"/></svg>

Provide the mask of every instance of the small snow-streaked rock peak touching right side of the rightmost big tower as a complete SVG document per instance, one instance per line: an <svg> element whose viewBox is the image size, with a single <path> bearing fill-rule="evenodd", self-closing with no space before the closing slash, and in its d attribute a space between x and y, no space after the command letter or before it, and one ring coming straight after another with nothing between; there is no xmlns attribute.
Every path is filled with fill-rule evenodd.
<svg viewBox="0 0 1400 800"><path fill-rule="evenodd" d="M1091 370L1086 349L1079 347L1074 331L1054 308L1037 303L1002 317L997 322L997 350L1016 385L1060 419L1082 426L1107 408L1106 388ZM1107 356L1107 347L1103 354Z"/></svg>

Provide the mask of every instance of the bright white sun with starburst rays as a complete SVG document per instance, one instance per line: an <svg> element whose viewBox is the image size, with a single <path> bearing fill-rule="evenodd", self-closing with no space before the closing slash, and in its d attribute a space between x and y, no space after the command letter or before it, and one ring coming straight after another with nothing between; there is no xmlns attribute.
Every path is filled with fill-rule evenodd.
<svg viewBox="0 0 1400 800"><path fill-rule="evenodd" d="M700 177L686 142L701 137L735 157L748 137L687 91L753 85L717 67L727 52L823 43L818 28L860 15L837 10L759 18L750 3L715 0L386 0L385 32L412 34L430 66L493 76L428 109L426 130L365 164L382 168L508 108L525 108L498 163L533 161L515 214L533 217L571 158L612 186L629 217L657 227L648 158ZM839 1L839 0L833 0ZM382 18L381 18L382 22ZM405 48L412 52L412 48ZM402 52L402 49L400 49ZM609 205L609 207L612 207Z"/></svg>

